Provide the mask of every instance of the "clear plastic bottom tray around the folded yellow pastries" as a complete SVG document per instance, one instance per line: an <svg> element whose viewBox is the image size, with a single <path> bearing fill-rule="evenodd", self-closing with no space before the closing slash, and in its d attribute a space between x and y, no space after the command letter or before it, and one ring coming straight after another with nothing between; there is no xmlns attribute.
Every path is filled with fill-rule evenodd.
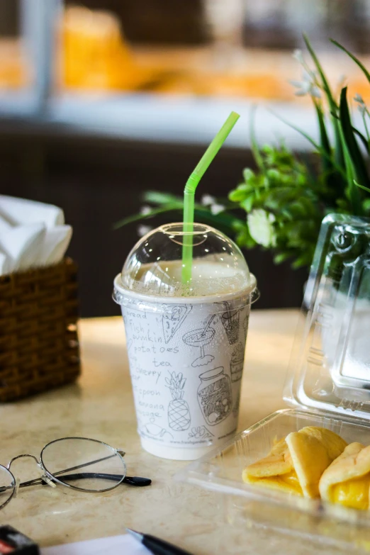
<svg viewBox="0 0 370 555"><path fill-rule="evenodd" d="M305 426L326 427L347 442L370 444L370 427L355 419L314 414L304 410L278 410L241 432L220 449L203 456L178 473L180 481L223 494L225 517L237 526L269 527L335 546L370 551L369 512L347 509L320 500L287 495L243 483L242 471L266 456L276 437L285 437Z"/></svg>

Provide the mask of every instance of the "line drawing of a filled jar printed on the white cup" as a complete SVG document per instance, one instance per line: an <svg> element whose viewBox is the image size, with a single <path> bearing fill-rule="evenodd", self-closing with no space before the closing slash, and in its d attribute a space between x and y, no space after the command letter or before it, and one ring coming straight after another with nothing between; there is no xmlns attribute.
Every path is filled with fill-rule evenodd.
<svg viewBox="0 0 370 555"><path fill-rule="evenodd" d="M223 366L218 366L199 376L198 403L211 426L225 420L232 408L231 382L223 370Z"/></svg>

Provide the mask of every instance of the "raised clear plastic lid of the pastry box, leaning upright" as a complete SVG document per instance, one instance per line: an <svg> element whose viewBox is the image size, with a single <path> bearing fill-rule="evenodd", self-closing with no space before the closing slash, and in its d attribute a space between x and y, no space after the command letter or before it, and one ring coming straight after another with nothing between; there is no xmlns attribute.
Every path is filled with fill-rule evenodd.
<svg viewBox="0 0 370 555"><path fill-rule="evenodd" d="M284 398L370 419L370 220L323 220Z"/></svg>

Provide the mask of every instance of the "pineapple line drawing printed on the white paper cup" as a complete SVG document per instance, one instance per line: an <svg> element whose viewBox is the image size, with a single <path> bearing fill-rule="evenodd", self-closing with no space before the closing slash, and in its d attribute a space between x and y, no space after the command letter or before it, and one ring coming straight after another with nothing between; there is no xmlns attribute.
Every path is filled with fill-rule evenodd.
<svg viewBox="0 0 370 555"><path fill-rule="evenodd" d="M166 378L167 387L171 391L172 401L168 405L168 423L169 427L175 432L184 432L190 426L190 409L184 397L184 386L186 378L182 372L176 375L175 372L169 372L169 378Z"/></svg>

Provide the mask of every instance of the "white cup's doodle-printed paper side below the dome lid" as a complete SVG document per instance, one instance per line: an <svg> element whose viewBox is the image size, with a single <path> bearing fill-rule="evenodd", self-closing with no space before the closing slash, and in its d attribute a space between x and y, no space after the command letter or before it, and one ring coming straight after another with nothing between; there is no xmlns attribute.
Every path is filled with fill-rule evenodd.
<svg viewBox="0 0 370 555"><path fill-rule="evenodd" d="M142 437L201 447L235 431L248 315L239 301L123 307Z"/></svg>

